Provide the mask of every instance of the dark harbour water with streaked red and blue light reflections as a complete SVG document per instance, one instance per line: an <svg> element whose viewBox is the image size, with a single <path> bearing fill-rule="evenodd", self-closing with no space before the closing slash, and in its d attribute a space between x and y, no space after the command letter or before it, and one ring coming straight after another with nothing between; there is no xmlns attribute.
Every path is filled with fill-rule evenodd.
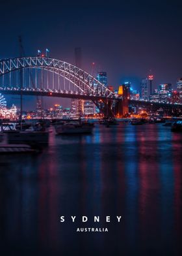
<svg viewBox="0 0 182 256"><path fill-rule="evenodd" d="M38 155L1 155L1 255L181 255L181 150L170 127L120 123L51 133Z"/></svg>

